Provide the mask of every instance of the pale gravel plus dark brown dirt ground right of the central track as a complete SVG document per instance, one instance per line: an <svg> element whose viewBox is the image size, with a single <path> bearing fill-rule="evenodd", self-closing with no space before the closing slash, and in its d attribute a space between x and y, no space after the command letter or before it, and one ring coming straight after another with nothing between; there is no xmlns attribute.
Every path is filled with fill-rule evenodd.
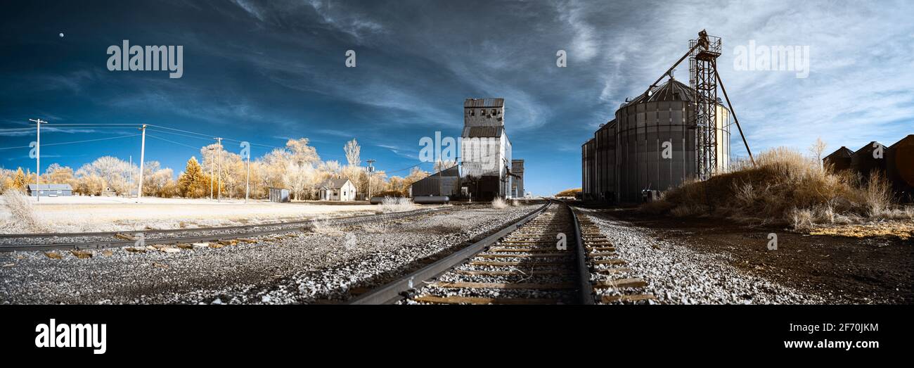
<svg viewBox="0 0 914 368"><path fill-rule="evenodd" d="M911 244L810 236L715 219L588 210L621 258L670 304L910 303ZM768 234L778 249L767 249Z"/></svg>

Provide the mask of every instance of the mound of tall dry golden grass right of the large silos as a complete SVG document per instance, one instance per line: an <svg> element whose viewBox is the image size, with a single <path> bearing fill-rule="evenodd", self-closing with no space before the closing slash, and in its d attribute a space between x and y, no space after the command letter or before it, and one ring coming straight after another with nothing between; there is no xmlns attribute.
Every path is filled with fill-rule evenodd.
<svg viewBox="0 0 914 368"><path fill-rule="evenodd" d="M875 172L861 182L852 173L819 168L815 160L783 147L763 152L756 163L741 162L706 181L685 182L642 209L785 223L803 231L822 225L914 219L914 210L899 207L887 180Z"/></svg>

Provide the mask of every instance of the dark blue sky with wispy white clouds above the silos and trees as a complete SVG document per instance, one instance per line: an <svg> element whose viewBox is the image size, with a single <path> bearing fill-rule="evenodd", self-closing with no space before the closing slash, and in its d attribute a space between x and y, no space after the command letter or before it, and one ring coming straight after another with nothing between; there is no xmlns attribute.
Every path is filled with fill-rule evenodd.
<svg viewBox="0 0 914 368"><path fill-rule="evenodd" d="M701 5L675 4L18 2L0 15L0 148L27 146L34 133L8 129L37 117L158 124L265 145L253 147L255 157L304 136L321 158L344 161L342 147L355 137L363 159L405 175L393 171L418 163L420 137L460 135L465 98L504 97L514 156L526 159L526 186L549 194L579 187L580 145L703 27L724 38L718 65L755 149L804 149L816 135L829 150L856 149L914 133L914 32L902 16L911 13L908 3L719 3L704 17ZM184 46L183 78L107 70L105 50L123 39ZM732 48L750 40L810 46L809 78L736 70ZM347 49L356 50L356 68L345 68ZM556 67L558 49L568 51L568 68ZM676 75L686 81L686 73L683 67ZM43 130L42 143L135 133L59 127ZM198 156L187 146L209 143L149 134L176 142L150 138L146 146L147 161L175 172ZM79 168L105 155L136 161L139 146L136 136L43 146L42 167ZM0 149L0 165L34 168L27 155L27 148Z"/></svg>

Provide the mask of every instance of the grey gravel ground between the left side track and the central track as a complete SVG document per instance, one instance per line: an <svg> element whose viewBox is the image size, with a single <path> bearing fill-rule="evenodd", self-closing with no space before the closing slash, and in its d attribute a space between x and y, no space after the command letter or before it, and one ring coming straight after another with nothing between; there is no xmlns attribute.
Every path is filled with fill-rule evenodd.
<svg viewBox="0 0 914 368"><path fill-rule="evenodd" d="M418 267L417 261L500 228L539 205L455 209L254 243L125 248L90 258L0 254L0 303L312 303L350 297Z"/></svg>

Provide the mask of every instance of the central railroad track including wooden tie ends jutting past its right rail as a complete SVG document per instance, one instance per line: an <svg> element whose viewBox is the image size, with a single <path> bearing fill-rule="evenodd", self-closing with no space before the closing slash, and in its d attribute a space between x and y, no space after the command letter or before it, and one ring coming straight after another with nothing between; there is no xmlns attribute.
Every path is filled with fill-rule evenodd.
<svg viewBox="0 0 914 368"><path fill-rule="evenodd" d="M564 235L564 236L563 236ZM564 237L564 248L560 239ZM655 299L568 204L537 211L348 304L618 304Z"/></svg>

